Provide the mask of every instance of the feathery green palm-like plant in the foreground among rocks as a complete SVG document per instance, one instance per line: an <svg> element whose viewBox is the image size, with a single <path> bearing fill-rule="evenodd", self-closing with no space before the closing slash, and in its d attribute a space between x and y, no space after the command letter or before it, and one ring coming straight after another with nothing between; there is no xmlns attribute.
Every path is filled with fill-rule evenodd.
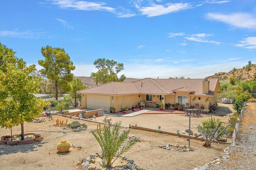
<svg viewBox="0 0 256 170"><path fill-rule="evenodd" d="M120 125L121 122L116 122L112 129L104 125L103 130L101 130L99 123L96 132L91 131L102 149L102 162L100 165L103 168L111 167L121 154L129 150L136 143L134 139L125 141L130 133L130 129L120 132ZM114 156L116 157L114 158Z"/></svg>

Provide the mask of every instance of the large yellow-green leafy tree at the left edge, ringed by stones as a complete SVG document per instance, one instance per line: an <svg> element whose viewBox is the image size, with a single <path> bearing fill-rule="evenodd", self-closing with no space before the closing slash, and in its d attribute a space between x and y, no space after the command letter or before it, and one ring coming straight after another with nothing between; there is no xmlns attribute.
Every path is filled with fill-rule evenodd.
<svg viewBox="0 0 256 170"><path fill-rule="evenodd" d="M0 125L12 128L21 125L24 140L24 122L31 122L42 113L48 102L36 98L40 80L32 73L36 66L14 56L15 52L0 43Z"/></svg>

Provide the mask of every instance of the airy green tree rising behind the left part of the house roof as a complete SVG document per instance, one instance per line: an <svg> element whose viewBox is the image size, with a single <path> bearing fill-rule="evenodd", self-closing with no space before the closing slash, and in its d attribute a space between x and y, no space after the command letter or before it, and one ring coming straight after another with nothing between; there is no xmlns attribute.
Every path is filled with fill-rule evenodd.
<svg viewBox="0 0 256 170"><path fill-rule="evenodd" d="M98 71L92 72L90 77L94 79L97 85L98 83L104 84L107 82L123 81L126 78L124 74L122 74L120 78L117 76L119 72L124 70L123 63L117 63L109 59L97 59L94 61L94 65Z"/></svg>

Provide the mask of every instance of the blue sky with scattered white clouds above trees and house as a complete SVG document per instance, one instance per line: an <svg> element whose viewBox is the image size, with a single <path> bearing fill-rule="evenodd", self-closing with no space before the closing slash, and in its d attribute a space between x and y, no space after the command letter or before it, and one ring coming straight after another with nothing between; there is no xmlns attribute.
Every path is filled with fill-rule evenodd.
<svg viewBox="0 0 256 170"><path fill-rule="evenodd" d="M37 65L64 48L75 76L105 58L127 78L204 78L256 64L256 1L0 0L0 42Z"/></svg>

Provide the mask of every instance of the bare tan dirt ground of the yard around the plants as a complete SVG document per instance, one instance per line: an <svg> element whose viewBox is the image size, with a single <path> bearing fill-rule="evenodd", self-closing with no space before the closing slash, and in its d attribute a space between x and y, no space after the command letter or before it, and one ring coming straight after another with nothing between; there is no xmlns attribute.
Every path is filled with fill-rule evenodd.
<svg viewBox="0 0 256 170"><path fill-rule="evenodd" d="M223 109L229 112L218 111L221 119L227 122L230 113L233 112L232 105L222 105ZM224 108L225 107L225 108ZM191 129L194 133L198 133L196 127L203 119L208 119L211 114L204 117L192 117ZM40 134L44 137L42 142L28 145L0 145L0 169L6 170L60 170L79 169L78 163L90 154L101 152L100 146L94 139L90 130L96 129L98 123L102 122L104 117L97 117L96 122L78 120L80 123L85 123L88 130L74 132L70 129L61 129L60 127L52 127L56 121L68 119L68 123L74 121L61 115L53 115L53 120L42 123L24 123L24 131ZM110 117L110 116L108 116ZM43 117L40 117L43 118ZM176 129L180 129L180 133L189 126L189 118L179 114L142 114L134 117L111 117L112 122L122 121L124 127L129 125L137 125L151 129L158 129L161 126L162 131L176 133ZM127 129L127 128L123 128ZM185 138L171 136L162 133L154 133L137 129L130 129L130 135L135 135L142 139L124 153L124 156L132 158L140 168L144 170L191 170L198 166L203 166L205 163L213 160L215 156L222 153L222 149L228 147L228 144L212 143L211 148L202 147L204 141L191 140L190 147L194 151L178 152L174 150L166 150L159 145L176 144L188 145ZM12 128L12 134L20 134L20 126ZM0 136L10 135L10 129L0 129ZM70 148L70 152L60 154L56 150L56 146L60 141L69 141L74 146L82 147L82 149ZM116 161L116 165L125 164L126 161Z"/></svg>

